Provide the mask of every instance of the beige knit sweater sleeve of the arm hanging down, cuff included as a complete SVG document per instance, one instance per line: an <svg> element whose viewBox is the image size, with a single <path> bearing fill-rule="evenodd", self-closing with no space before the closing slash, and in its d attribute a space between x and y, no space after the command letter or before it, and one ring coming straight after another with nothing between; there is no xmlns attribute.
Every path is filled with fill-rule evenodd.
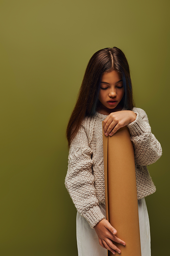
<svg viewBox="0 0 170 256"><path fill-rule="evenodd" d="M78 212L88 220L91 228L105 218L96 197L92 153L87 134L81 125L70 145L65 185Z"/></svg>

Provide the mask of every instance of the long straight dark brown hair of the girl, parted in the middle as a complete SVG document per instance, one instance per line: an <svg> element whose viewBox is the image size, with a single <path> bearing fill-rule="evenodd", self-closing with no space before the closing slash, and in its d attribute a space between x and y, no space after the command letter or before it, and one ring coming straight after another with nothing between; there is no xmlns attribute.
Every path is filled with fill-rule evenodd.
<svg viewBox="0 0 170 256"><path fill-rule="evenodd" d="M104 72L116 70L122 80L124 95L122 105L127 110L134 107L132 83L128 61L124 53L117 47L97 51L89 60L75 107L67 126L68 146L79 130L85 116L92 116L99 104L101 77Z"/></svg>

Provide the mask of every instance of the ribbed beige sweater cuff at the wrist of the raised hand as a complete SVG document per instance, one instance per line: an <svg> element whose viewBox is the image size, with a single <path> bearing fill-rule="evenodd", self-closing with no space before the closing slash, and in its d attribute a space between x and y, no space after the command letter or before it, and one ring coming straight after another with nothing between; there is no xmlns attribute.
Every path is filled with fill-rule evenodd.
<svg viewBox="0 0 170 256"><path fill-rule="evenodd" d="M147 132L148 127L145 122L142 120L139 113L134 112L136 114L136 119L132 123L128 124L127 127L132 136L141 135L143 132Z"/></svg>

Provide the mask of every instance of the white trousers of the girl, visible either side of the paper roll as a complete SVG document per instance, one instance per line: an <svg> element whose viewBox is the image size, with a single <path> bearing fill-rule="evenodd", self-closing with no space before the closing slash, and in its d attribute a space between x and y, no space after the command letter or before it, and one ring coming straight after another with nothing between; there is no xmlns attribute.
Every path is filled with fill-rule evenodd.
<svg viewBox="0 0 170 256"><path fill-rule="evenodd" d="M99 204L105 216L105 205ZM149 216L145 198L138 200L140 243L142 256L151 256ZM107 251L99 244L98 235L88 221L77 213L77 246L79 256L106 256Z"/></svg>

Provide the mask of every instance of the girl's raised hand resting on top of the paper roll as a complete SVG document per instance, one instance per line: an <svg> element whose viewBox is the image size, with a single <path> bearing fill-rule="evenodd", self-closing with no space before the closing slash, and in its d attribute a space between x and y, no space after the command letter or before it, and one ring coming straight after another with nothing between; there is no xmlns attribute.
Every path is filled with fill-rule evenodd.
<svg viewBox="0 0 170 256"><path fill-rule="evenodd" d="M131 110L113 112L106 117L103 122L103 130L106 136L112 136L121 127L132 123L136 119L136 114Z"/></svg>

